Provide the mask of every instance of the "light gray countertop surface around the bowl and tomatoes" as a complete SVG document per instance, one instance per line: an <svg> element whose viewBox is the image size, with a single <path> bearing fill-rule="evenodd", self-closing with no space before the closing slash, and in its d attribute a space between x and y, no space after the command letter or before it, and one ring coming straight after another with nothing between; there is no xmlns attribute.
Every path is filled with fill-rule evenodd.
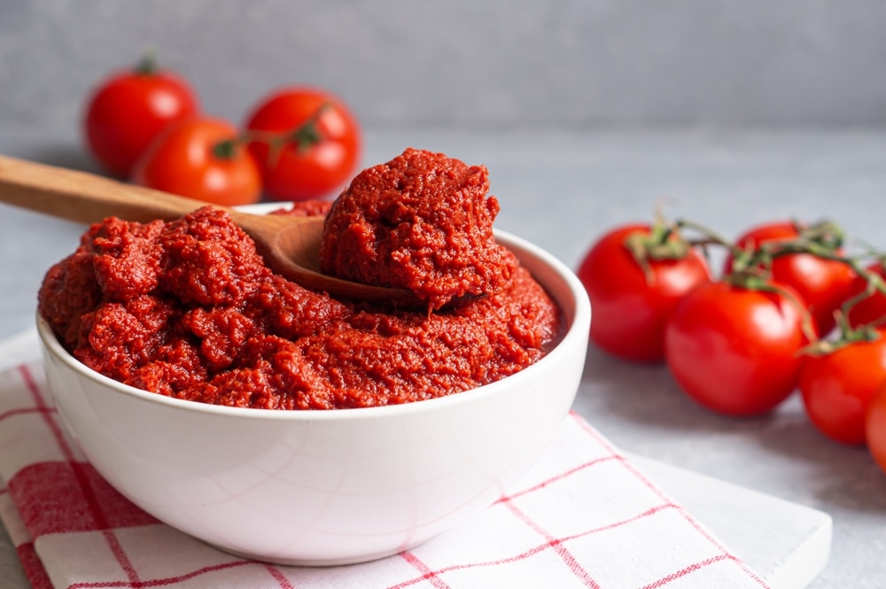
<svg viewBox="0 0 886 589"><path fill-rule="evenodd" d="M366 165L408 146L485 164L501 202L497 226L573 268L602 232L649 221L657 208L727 236L827 217L886 248L886 131L370 128L365 139ZM92 169L70 129L13 125L0 132L0 153ZM0 338L31 327L43 273L83 229L0 205ZM592 347L575 409L628 452L832 515L830 560L811 587L886 586L886 475L866 450L813 430L796 395L772 415L728 419L688 400L664 366ZM22 578L15 562L0 576L4 586Z"/></svg>

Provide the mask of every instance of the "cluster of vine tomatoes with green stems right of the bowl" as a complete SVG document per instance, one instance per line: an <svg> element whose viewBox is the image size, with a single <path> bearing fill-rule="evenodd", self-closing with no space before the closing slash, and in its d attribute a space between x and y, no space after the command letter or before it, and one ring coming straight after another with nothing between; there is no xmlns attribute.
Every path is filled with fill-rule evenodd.
<svg viewBox="0 0 886 589"><path fill-rule="evenodd" d="M725 248L719 273L713 247ZM764 415L799 390L816 429L867 445L886 470L882 260L847 256L830 222L767 222L730 242L658 220L610 230L578 275L604 352L664 361L682 391L722 415Z"/></svg>

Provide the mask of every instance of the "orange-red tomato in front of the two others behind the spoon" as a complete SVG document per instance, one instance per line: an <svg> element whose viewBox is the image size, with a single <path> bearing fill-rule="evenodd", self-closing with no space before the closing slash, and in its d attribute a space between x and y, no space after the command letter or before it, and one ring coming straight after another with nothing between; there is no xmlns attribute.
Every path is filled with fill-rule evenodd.
<svg viewBox="0 0 886 589"><path fill-rule="evenodd" d="M215 119L191 119L159 136L136 163L133 182L216 205L249 205L261 197L261 176L242 145L227 154L221 143L237 128Z"/></svg>

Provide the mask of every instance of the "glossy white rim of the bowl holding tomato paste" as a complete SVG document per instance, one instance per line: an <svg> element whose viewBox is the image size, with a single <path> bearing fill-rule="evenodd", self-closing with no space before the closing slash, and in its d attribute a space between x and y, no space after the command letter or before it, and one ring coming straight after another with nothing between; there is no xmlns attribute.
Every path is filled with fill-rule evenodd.
<svg viewBox="0 0 886 589"><path fill-rule="evenodd" d="M397 415L411 415L434 411L442 407L470 402L470 399L478 399L493 395L499 391L499 389L514 384L515 379L531 378L535 372L544 369L546 365L556 361L556 359L563 354L569 353L569 350L573 346L581 345L581 340L587 338L587 326L590 324L591 306L590 301L587 298L587 292L582 283L580 283L578 276L576 276L561 260L558 260L551 253L541 249L538 245L532 244L521 237L514 236L501 229L495 229L495 236L496 238L501 238L505 245L514 246L540 260L544 265L553 269L556 276L566 283L568 291L571 293L571 300L556 300L556 303L563 314L563 320L565 323L563 337L560 338L560 341L558 341L554 348L545 354L544 357L513 375L505 376L494 383L484 384L473 389L434 399L422 399L409 403L378 407L348 407L343 409L288 411L258 409L252 407L228 407L187 399L175 399L156 392L144 391L143 389L136 388L129 384L120 383L109 376L105 376L92 368L87 367L80 360L74 358L71 353L68 353L60 344L58 338L50 328L49 323L43 319L39 314L39 311L36 314L37 334L48 353L51 353L54 357L58 358L58 360L61 360L67 368L74 370L75 373L88 380L103 384L115 391L144 402L175 407L176 409L182 409L184 411L198 414L224 415L237 418L267 419L287 422L338 422L392 418ZM545 284L542 283L542 286L545 286Z"/></svg>

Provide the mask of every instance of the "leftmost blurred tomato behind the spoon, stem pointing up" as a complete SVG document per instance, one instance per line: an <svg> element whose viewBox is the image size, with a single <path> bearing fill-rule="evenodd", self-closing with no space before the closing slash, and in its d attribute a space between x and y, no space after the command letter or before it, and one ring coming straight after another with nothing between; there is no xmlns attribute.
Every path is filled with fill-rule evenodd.
<svg viewBox="0 0 886 589"><path fill-rule="evenodd" d="M163 129L198 112L190 84L146 59L97 85L86 105L83 133L89 151L108 174L126 178Z"/></svg>

